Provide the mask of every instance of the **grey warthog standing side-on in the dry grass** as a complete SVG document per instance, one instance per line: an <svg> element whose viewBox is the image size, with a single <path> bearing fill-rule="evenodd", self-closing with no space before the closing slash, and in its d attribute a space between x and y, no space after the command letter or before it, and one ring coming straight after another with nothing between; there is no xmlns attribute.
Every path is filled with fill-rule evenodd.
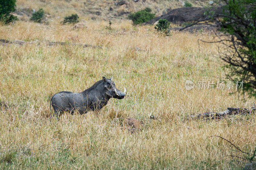
<svg viewBox="0 0 256 170"><path fill-rule="evenodd" d="M107 79L102 77L102 80L97 81L90 88L80 93L59 92L52 96L50 101L54 110L54 115L60 117L64 111L70 112L72 115L75 111L79 114L87 113L88 111L96 111L96 114L104 107L110 98L124 99L124 92L116 89L112 78Z"/></svg>

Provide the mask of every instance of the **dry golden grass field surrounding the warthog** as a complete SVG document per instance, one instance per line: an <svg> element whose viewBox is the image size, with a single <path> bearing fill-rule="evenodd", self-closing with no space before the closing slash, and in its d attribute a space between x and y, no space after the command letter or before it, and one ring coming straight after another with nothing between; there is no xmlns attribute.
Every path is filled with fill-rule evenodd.
<svg viewBox="0 0 256 170"><path fill-rule="evenodd" d="M185 81L226 80L218 44L206 33L163 36L154 26L130 21L88 21L87 28L18 21L1 26L2 39L70 41L106 48L0 46L0 169L239 169L244 151L256 146L256 116L182 122L186 115L250 107L255 100L229 90L185 90ZM121 34L124 32L124 34ZM120 34L119 34L120 33ZM139 47L141 50L135 50ZM111 99L97 117L65 113L50 119L50 98L60 91L82 92L102 76L115 79L127 96ZM244 100L242 100L244 99ZM157 115L161 121L148 115ZM122 118L143 129L129 133ZM114 121L114 118L118 121ZM116 119L115 119L116 120Z"/></svg>

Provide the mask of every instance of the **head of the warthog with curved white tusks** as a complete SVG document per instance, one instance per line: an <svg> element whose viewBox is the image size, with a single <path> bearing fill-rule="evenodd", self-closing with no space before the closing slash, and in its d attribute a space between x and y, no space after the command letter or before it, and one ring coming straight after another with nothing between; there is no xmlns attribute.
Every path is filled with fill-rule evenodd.
<svg viewBox="0 0 256 170"><path fill-rule="evenodd" d="M112 78L107 79L105 77L102 77L102 79L104 81L104 88L106 89L106 94L109 97L113 97L116 99L124 99L125 92L126 92L125 88L124 88L124 92L121 92L120 90L116 89L115 82L112 81Z"/></svg>

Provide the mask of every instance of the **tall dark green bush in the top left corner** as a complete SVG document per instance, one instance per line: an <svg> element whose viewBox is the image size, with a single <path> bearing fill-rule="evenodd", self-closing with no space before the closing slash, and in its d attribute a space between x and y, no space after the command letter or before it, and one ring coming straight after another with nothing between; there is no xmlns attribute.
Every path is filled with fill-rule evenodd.
<svg viewBox="0 0 256 170"><path fill-rule="evenodd" d="M10 14L15 11L16 0L0 0L0 21L8 24L17 20L17 17Z"/></svg>

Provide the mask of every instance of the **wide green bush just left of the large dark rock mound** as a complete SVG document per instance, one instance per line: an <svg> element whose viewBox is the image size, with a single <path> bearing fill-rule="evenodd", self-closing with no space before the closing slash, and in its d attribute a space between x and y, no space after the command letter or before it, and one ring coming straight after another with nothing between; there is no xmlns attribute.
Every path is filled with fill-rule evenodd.
<svg viewBox="0 0 256 170"><path fill-rule="evenodd" d="M151 13L151 11L150 8L145 8L144 10L131 13L128 15L128 18L132 20L133 25L138 25L155 18L156 14Z"/></svg>

